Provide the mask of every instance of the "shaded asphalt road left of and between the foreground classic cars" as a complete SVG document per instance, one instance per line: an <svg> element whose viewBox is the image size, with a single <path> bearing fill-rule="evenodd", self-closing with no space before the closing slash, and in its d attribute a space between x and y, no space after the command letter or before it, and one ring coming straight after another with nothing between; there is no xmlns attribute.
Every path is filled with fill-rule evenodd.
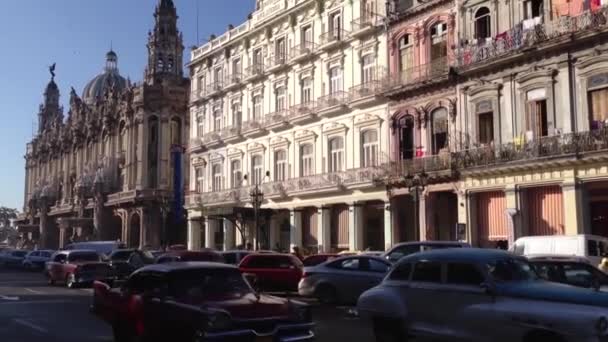
<svg viewBox="0 0 608 342"><path fill-rule="evenodd" d="M0 341L112 341L111 329L88 311L91 289L48 286L41 273L0 269ZM315 306L317 341L372 342L371 328L348 308Z"/></svg>

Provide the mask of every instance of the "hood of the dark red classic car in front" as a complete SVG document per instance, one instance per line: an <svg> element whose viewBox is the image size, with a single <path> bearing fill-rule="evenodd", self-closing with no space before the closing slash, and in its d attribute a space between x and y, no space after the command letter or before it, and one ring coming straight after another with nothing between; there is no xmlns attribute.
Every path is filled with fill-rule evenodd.
<svg viewBox="0 0 608 342"><path fill-rule="evenodd" d="M238 298L217 298L207 300L204 308L226 310L234 319L263 319L289 315L289 304L284 298L253 293Z"/></svg>

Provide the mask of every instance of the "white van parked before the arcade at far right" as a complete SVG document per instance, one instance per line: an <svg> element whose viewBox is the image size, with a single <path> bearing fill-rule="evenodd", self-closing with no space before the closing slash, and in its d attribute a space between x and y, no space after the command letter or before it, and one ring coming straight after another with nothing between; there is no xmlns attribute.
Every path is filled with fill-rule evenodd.
<svg viewBox="0 0 608 342"><path fill-rule="evenodd" d="M608 256L608 238L597 235L545 235L517 239L509 249L517 255L569 255L584 257L597 266Z"/></svg>

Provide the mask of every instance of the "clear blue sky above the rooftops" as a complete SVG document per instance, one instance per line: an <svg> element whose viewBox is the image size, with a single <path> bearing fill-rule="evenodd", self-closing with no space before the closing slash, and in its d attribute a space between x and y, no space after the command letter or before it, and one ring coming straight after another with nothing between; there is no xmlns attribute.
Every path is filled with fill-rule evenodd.
<svg viewBox="0 0 608 342"><path fill-rule="evenodd" d="M223 33L244 22L255 0L174 0L184 34L184 57L195 45L196 2L199 38ZM113 48L124 77L139 82L146 63L147 32L157 0L19 0L2 1L0 10L0 206L23 206L25 144L32 138L48 66L57 63L61 101L78 93L100 73ZM186 62L186 60L185 60ZM67 113L64 113L67 114Z"/></svg>

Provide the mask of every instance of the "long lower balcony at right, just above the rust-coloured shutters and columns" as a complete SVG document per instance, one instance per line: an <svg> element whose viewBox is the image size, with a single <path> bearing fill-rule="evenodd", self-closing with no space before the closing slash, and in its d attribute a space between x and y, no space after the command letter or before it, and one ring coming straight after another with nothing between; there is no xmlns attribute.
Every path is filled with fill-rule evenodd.
<svg viewBox="0 0 608 342"><path fill-rule="evenodd" d="M608 152L608 128L601 128L459 151L453 154L453 162L458 169L521 169L522 164L548 167L584 157L606 162L605 152Z"/></svg>

